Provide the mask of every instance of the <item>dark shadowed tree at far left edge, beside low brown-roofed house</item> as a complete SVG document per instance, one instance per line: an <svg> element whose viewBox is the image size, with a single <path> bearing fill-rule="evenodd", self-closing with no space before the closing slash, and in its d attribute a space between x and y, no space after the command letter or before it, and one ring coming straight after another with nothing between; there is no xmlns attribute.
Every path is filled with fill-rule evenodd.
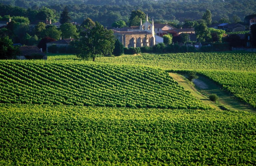
<svg viewBox="0 0 256 166"><path fill-rule="evenodd" d="M0 38L0 59L10 59L18 55L18 47L14 47L12 44L13 42L8 36Z"/></svg>

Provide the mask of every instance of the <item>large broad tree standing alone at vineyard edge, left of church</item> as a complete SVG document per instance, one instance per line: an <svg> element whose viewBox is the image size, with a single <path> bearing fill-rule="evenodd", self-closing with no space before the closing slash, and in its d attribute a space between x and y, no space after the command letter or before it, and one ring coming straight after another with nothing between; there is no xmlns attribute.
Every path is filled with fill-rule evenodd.
<svg viewBox="0 0 256 166"><path fill-rule="evenodd" d="M80 32L80 40L75 41L78 50L77 57L95 61L97 55L111 55L114 49L115 36L112 30L107 30L99 22L95 26L85 25Z"/></svg>

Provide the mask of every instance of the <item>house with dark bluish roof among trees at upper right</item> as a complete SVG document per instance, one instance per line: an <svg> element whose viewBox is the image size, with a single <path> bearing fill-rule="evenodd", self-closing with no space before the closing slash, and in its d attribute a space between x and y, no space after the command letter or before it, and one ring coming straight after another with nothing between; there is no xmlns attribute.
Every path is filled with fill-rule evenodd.
<svg viewBox="0 0 256 166"><path fill-rule="evenodd" d="M238 32L238 31L245 31L245 26L242 24L230 24L230 23L216 23L212 24L210 27L214 29L221 29L225 30L226 32Z"/></svg>

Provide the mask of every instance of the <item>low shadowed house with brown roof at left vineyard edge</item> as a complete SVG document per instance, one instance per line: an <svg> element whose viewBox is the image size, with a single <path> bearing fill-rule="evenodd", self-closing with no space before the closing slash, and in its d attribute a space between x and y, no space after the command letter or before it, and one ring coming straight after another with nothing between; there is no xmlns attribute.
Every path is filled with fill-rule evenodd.
<svg viewBox="0 0 256 166"><path fill-rule="evenodd" d="M19 49L21 53L17 59L47 59L47 55L37 46L22 46Z"/></svg>

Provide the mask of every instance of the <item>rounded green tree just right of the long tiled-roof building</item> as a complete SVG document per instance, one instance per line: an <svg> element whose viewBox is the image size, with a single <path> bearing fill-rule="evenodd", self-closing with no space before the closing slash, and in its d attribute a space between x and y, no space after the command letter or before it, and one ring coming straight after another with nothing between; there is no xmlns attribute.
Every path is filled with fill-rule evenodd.
<svg viewBox="0 0 256 166"><path fill-rule="evenodd" d="M195 33L198 42L205 42L211 39L210 31L204 23L195 26Z"/></svg>

